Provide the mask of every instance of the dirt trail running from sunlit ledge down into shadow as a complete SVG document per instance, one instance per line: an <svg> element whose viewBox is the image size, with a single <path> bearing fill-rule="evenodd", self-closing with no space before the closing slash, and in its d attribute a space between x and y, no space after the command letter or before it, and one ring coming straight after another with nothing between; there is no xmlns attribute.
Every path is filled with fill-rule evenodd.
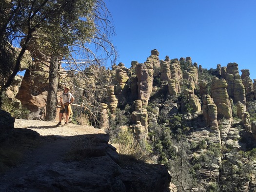
<svg viewBox="0 0 256 192"><path fill-rule="evenodd" d="M46 167L56 162L64 162L66 154L72 150L72 142L78 135L104 133L103 130L90 126L79 126L69 123L56 127L56 122L39 120L15 120L15 128L26 128L40 134L39 148L25 154L23 162L0 174L0 191L5 191L14 182L19 184L20 178L37 167Z"/></svg>

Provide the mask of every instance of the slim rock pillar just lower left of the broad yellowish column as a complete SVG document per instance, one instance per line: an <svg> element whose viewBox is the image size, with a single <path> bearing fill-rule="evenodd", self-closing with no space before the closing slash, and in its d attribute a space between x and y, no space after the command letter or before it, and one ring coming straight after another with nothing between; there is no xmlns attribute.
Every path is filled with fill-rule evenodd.
<svg viewBox="0 0 256 192"><path fill-rule="evenodd" d="M203 116L205 118L207 126L210 126L211 129L216 130L218 128L217 122L217 106L214 103L213 98L210 95L203 95Z"/></svg>

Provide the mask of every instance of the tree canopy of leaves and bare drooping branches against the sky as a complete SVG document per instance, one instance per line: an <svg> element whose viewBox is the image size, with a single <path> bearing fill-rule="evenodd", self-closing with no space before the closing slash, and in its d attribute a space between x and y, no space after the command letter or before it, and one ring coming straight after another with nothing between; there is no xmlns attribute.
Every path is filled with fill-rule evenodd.
<svg viewBox="0 0 256 192"><path fill-rule="evenodd" d="M110 41L114 27L109 19L102 0L2 0L1 92L19 72L20 61L35 39L35 52L49 60L53 56L65 59L78 68L115 60L117 53Z"/></svg>

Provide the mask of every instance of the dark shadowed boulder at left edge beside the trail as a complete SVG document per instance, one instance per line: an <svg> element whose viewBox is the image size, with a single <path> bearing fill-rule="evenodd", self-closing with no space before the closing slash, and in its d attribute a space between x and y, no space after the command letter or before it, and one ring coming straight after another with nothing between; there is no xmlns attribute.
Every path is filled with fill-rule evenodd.
<svg viewBox="0 0 256 192"><path fill-rule="evenodd" d="M14 117L6 111L0 110L0 142L14 132Z"/></svg>

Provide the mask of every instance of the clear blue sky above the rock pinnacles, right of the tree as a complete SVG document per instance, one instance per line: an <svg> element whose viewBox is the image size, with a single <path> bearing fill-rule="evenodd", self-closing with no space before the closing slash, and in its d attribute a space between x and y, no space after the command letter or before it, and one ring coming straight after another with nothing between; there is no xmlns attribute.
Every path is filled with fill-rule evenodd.
<svg viewBox="0 0 256 192"><path fill-rule="evenodd" d="M203 68L229 62L256 79L256 0L105 0L122 62L191 57ZM241 73L240 73L241 74Z"/></svg>

